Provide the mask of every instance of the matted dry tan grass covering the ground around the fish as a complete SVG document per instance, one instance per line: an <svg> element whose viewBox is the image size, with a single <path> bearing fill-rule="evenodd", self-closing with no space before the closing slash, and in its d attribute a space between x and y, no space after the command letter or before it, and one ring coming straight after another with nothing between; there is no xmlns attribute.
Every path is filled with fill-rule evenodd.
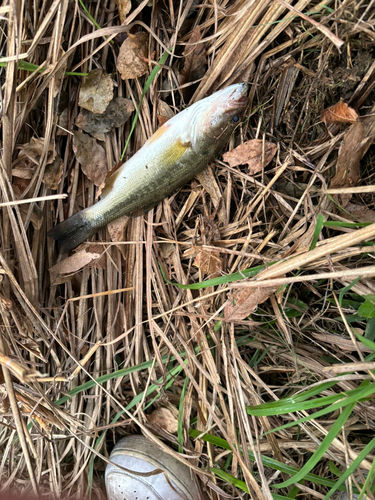
<svg viewBox="0 0 375 500"><path fill-rule="evenodd" d="M281 0L188 0L151 8L147 0L133 1L121 27L114 1L87 2L90 15L80 3L66 0L11 1L0 8L1 61L6 62L0 170L3 489L66 497L92 490L103 497L103 471L113 442L142 432L188 464L212 499L271 499L288 490L292 498L327 493L328 483L311 477L292 489L274 489L290 475L286 469L275 472L260 454L302 469L343 415L342 408L266 435L311 411L294 414L292 405L279 414L258 415L251 408L322 382L333 381L322 389L325 397L361 389L374 379L373 330L356 309L363 297L375 294L375 225L351 226L365 215L374 220L369 210L374 205L373 152L361 161L356 190L350 172L346 185L330 190L348 127L327 130L320 120L322 109L342 97L359 115L370 115L368 146L372 142L374 2L292 4L293 9ZM209 69L189 94L176 88L176 72L183 51L193 50L189 40L197 25ZM99 233L95 246L82 248L100 259L52 282L49 269L63 256L46 233L93 204L97 189L72 152L84 77L64 73L103 67L112 74L117 95L137 106L147 75L122 81L116 57L119 34L139 29L150 33L150 70L165 49L174 55L142 102L125 159L157 129L158 100L178 111L190 98L199 100L237 81L251 83L248 119L227 149L257 138L276 143L277 155L255 176L219 158L210 174L126 221L122 241L112 243L107 230ZM45 71L26 71L25 62ZM68 133L59 127L64 108ZM130 128L128 122L106 134L108 168L120 160ZM43 148L33 177L20 186L12 180L12 169L20 145L32 137L43 138ZM43 183L50 144L64 167L55 191ZM337 195L348 196L348 191L365 215L353 218L340 210ZM30 200L15 203L22 199ZM219 259L221 282L189 289L164 279L163 273L173 283L203 282L203 267L194 265L199 251ZM241 279L244 270L256 266L265 268L256 278ZM225 278L233 273L240 273L240 281ZM233 305L238 290L249 287L273 293L252 314L226 321L225 308ZM346 321L354 314L354 324L353 318ZM366 327L370 343L363 344L356 333ZM313 474L334 484L337 468L343 472L361 459L374 433L372 394L350 409ZM177 433L149 420L160 407L179 422ZM204 433L211 438L202 439ZM361 489L372 461L371 454L359 460L346 484ZM214 466L228 475L215 474ZM366 494L373 497L369 490Z"/></svg>

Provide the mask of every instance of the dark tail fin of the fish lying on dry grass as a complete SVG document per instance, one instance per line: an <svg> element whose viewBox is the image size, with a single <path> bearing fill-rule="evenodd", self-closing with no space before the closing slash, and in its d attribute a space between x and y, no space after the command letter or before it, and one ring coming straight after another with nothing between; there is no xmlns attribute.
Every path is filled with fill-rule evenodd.
<svg viewBox="0 0 375 500"><path fill-rule="evenodd" d="M80 243L95 234L99 228L90 223L86 217L85 210L64 220L61 224L53 227L48 236L57 241L59 250L66 253L73 250Z"/></svg>

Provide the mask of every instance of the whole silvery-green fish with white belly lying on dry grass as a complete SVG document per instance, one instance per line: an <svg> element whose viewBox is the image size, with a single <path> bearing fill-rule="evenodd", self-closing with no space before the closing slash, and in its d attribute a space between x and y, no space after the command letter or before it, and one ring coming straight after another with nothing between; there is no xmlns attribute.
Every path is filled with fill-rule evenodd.
<svg viewBox="0 0 375 500"><path fill-rule="evenodd" d="M220 153L247 106L248 85L221 89L176 114L106 180L100 200L53 227L62 253L123 215L150 210Z"/></svg>

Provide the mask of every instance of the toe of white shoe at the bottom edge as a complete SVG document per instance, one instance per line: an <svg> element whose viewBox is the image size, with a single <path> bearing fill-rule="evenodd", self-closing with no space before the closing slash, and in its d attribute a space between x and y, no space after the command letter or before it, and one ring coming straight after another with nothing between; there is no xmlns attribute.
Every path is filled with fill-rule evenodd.
<svg viewBox="0 0 375 500"><path fill-rule="evenodd" d="M105 484L108 500L198 500L189 467L157 448L143 436L127 436L113 448L110 460L134 471L125 472L108 464ZM165 473L139 476L137 472L162 469ZM172 483L168 483L165 476Z"/></svg>

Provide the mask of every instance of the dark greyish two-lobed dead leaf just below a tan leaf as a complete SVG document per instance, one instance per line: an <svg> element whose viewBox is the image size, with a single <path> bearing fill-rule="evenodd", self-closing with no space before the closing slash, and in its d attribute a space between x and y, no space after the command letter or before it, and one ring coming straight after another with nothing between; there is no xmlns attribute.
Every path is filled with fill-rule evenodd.
<svg viewBox="0 0 375 500"><path fill-rule="evenodd" d="M108 104L104 113L92 113L82 109L76 118L76 125L98 141L104 141L104 134L126 123L134 110L130 99L116 97Z"/></svg>

